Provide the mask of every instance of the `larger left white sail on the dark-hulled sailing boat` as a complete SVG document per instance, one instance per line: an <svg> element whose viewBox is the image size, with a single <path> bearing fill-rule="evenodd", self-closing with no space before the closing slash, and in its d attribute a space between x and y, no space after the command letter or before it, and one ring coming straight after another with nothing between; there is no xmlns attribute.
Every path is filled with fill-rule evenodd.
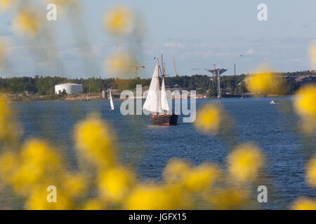
<svg viewBox="0 0 316 224"><path fill-rule="evenodd" d="M154 69L154 74L152 75L152 81L150 83L147 98L143 105L143 109L153 113L161 113L161 107L162 106L159 95L159 66L157 62L156 68Z"/></svg>

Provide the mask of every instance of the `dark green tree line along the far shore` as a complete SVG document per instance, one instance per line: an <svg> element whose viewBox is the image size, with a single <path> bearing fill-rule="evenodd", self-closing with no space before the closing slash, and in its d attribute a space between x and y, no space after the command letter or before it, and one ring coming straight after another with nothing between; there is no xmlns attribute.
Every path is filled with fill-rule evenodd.
<svg viewBox="0 0 316 224"><path fill-rule="evenodd" d="M315 71L296 71L291 73L275 73L277 76L310 76L315 75ZM238 76L221 76L220 88L222 91L231 94L243 94L247 92L245 83L242 82L246 78L246 74ZM39 77L13 77L0 78L0 91L19 93L28 91L40 95L55 94L55 85L60 83L78 83L83 85L84 93L96 93L107 90L108 88L117 88L121 90L134 90L136 85L150 85L150 78L61 78L58 76L39 76ZM293 94L301 85L293 78L287 78L287 94ZM166 77L167 86L180 85L187 90L196 90L197 94L216 95L217 79L213 76L194 75L194 76L178 76Z"/></svg>

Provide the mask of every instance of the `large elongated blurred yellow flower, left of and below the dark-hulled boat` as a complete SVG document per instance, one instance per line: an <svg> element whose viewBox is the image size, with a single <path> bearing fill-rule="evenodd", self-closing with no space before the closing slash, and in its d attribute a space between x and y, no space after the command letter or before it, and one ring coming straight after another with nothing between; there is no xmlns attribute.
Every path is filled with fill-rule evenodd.
<svg viewBox="0 0 316 224"><path fill-rule="evenodd" d="M74 130L76 146L84 156L100 166L116 161L110 128L101 118L91 115L80 121Z"/></svg>

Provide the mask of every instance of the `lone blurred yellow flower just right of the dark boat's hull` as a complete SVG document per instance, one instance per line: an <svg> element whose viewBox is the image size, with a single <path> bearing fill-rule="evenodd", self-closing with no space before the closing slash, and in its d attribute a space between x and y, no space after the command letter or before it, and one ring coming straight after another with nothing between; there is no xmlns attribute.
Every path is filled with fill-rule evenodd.
<svg viewBox="0 0 316 224"><path fill-rule="evenodd" d="M209 104L197 112L195 127L197 130L211 134L217 134L222 121L223 109L221 106Z"/></svg>

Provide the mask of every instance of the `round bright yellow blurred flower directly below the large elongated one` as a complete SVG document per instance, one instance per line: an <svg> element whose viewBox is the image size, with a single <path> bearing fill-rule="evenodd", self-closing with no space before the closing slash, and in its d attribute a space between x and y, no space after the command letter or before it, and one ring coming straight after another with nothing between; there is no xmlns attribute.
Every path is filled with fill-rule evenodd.
<svg viewBox="0 0 316 224"><path fill-rule="evenodd" d="M99 179L100 194L106 199L119 201L128 193L134 181L134 175L128 169L123 167L106 169Z"/></svg>

